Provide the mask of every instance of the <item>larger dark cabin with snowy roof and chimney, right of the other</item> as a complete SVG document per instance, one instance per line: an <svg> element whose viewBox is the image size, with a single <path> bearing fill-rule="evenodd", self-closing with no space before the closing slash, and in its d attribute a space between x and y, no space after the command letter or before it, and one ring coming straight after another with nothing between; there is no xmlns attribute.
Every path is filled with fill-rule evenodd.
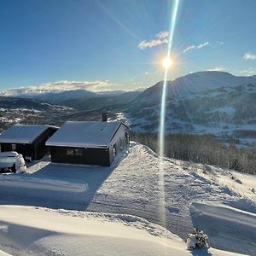
<svg viewBox="0 0 256 256"><path fill-rule="evenodd" d="M68 121L46 145L55 163L110 166L129 147L129 131L120 122Z"/></svg>

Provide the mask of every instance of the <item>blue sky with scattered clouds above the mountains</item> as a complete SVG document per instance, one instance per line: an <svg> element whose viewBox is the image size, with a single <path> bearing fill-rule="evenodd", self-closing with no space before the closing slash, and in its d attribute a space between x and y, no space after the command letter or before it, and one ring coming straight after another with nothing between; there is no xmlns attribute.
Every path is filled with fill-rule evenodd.
<svg viewBox="0 0 256 256"><path fill-rule="evenodd" d="M256 74L255 0L1 0L0 90L142 90L204 70Z"/></svg>

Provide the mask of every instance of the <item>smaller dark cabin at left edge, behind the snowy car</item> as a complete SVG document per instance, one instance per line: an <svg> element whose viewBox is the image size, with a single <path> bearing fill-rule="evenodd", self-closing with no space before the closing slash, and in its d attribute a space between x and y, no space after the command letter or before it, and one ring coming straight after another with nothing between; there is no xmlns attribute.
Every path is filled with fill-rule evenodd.
<svg viewBox="0 0 256 256"><path fill-rule="evenodd" d="M13 125L0 135L1 152L16 151L25 160L40 160L47 153L45 142L57 130L51 125Z"/></svg>

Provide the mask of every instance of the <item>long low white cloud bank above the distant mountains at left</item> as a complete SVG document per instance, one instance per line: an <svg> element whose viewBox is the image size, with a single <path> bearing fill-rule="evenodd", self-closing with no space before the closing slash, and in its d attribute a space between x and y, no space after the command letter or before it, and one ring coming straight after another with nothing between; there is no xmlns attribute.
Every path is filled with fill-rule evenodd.
<svg viewBox="0 0 256 256"><path fill-rule="evenodd" d="M19 95L38 95L48 92L61 92L64 90L92 90L92 91L104 91L104 90L117 90L123 87L122 84L111 83L108 80L105 81L57 81L53 83L25 86L15 89L9 89L1 93L4 96L19 96Z"/></svg>

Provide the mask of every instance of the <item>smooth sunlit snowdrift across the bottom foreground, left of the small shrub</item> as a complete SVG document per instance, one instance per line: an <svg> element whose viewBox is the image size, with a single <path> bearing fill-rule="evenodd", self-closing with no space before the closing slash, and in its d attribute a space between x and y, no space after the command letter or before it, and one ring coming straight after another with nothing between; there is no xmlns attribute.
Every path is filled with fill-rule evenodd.
<svg viewBox="0 0 256 256"><path fill-rule="evenodd" d="M1 206L0 223L0 248L14 255L191 255L171 232L128 215ZM198 255L209 253L236 255Z"/></svg>

